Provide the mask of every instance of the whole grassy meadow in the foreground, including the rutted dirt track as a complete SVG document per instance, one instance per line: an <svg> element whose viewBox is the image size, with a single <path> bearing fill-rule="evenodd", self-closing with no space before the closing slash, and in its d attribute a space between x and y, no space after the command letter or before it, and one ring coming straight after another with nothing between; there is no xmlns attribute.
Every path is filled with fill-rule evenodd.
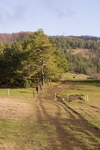
<svg viewBox="0 0 100 150"><path fill-rule="evenodd" d="M81 99L59 103L52 95L55 89L61 98L69 94ZM44 91L9 88L8 96L8 89L0 89L0 150L97 150L100 80L66 73Z"/></svg>

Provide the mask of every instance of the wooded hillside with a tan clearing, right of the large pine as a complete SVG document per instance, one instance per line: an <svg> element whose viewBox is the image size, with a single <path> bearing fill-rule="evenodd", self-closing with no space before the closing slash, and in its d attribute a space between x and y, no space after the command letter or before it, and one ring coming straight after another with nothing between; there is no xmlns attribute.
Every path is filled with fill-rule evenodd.
<svg viewBox="0 0 100 150"><path fill-rule="evenodd" d="M60 54L68 60L70 71L93 75L100 73L100 42L53 36Z"/></svg>

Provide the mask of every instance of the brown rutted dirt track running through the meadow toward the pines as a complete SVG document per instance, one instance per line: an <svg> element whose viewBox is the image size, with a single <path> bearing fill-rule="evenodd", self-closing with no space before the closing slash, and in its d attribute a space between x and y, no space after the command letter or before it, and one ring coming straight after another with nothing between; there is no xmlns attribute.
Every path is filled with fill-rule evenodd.
<svg viewBox="0 0 100 150"><path fill-rule="evenodd" d="M74 150L76 148L77 150L100 150L100 143L96 141L96 139L100 138L100 131L88 126L86 120L75 110L55 101L55 89L59 91L62 87L54 86L51 89L47 89L46 96L43 97L40 94L35 103L38 124L48 135L48 149ZM48 108L49 105L51 105L50 108ZM55 107L55 109L52 109L52 107ZM48 109L51 109L51 111ZM56 140L53 137L53 133L42 126L47 121L56 128ZM87 141L90 143L90 146L87 144Z"/></svg>

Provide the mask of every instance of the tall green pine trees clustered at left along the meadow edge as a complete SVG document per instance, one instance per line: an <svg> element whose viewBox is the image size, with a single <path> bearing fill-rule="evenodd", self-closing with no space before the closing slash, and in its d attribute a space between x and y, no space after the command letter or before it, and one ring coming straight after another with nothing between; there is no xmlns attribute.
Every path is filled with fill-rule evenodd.
<svg viewBox="0 0 100 150"><path fill-rule="evenodd" d="M44 78L57 81L67 71L67 61L42 30L12 45L0 43L0 86L26 87L39 80L44 84Z"/></svg>

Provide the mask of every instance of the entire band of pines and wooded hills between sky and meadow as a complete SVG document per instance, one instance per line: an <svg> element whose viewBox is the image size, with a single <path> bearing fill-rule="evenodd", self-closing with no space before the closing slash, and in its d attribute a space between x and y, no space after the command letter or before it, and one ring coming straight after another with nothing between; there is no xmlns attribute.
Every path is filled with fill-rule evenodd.
<svg viewBox="0 0 100 150"><path fill-rule="evenodd" d="M32 86L43 78L57 81L68 69L100 73L97 38L47 36L42 30L0 34L0 38L0 86Z"/></svg>

